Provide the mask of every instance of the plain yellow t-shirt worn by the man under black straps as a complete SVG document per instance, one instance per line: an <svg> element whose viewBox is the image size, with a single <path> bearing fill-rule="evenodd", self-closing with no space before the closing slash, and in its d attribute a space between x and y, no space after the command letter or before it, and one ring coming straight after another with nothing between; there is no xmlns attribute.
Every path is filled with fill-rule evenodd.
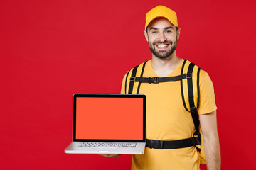
<svg viewBox="0 0 256 170"><path fill-rule="evenodd" d="M178 64L168 77L181 74L184 60ZM206 114L217 109L213 83L206 72L200 72L199 114ZM124 94L125 77L121 93ZM143 77L157 77L151 67L151 60L146 62ZM159 84L142 83L139 94L146 94L146 138L150 140L182 140L193 137L195 126L191 113L186 111L181 98L181 82ZM133 155L133 170L173 169L198 170L199 159L195 147L181 149L145 148L144 154Z"/></svg>

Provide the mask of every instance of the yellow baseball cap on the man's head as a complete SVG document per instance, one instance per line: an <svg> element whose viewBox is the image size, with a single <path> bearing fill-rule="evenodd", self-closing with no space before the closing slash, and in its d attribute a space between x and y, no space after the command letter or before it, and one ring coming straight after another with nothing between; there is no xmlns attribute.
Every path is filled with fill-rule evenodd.
<svg viewBox="0 0 256 170"><path fill-rule="evenodd" d="M152 8L148 13L146 13L145 30L147 26L149 26L149 23L151 23L151 21L159 17L164 17L168 19L172 24L174 24L174 26L178 27L176 12L172 11L166 6L156 6L155 8Z"/></svg>

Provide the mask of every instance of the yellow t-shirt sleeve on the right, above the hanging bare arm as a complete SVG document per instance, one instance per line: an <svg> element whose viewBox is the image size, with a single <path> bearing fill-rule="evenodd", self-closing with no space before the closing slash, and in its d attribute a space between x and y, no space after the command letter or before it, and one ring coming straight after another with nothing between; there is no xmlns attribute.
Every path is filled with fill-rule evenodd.
<svg viewBox="0 0 256 170"><path fill-rule="evenodd" d="M207 114L217 109L213 82L207 72L201 70L199 78L200 103L198 114Z"/></svg>

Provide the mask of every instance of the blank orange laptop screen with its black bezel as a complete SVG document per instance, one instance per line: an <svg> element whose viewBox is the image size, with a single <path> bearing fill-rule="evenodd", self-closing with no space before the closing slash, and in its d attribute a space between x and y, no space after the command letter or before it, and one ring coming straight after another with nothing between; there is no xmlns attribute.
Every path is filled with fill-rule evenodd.
<svg viewBox="0 0 256 170"><path fill-rule="evenodd" d="M145 96L75 94L75 140L144 140Z"/></svg>

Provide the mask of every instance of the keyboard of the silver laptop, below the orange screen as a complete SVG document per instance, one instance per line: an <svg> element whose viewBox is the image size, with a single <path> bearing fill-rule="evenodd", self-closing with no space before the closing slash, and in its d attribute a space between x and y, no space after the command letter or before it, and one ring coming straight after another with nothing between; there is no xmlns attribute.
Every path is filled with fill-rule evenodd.
<svg viewBox="0 0 256 170"><path fill-rule="evenodd" d="M79 142L78 147L136 147L136 143L127 142Z"/></svg>

